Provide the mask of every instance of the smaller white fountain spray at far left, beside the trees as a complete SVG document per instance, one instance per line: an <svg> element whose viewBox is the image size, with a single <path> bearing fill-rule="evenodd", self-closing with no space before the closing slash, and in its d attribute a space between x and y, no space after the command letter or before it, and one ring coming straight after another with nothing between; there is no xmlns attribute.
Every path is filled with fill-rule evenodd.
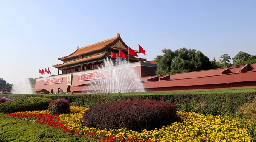
<svg viewBox="0 0 256 142"><path fill-rule="evenodd" d="M21 76L16 79L12 86L12 94L32 94L29 78Z"/></svg>

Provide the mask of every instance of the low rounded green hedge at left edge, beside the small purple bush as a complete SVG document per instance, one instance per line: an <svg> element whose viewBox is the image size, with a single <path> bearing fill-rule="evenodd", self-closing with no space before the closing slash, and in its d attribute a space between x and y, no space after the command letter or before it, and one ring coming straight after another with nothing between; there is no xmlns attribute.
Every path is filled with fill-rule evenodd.
<svg viewBox="0 0 256 142"><path fill-rule="evenodd" d="M45 110L48 108L52 99L42 97L23 97L15 100L9 100L0 104L1 113L12 113L19 111Z"/></svg>

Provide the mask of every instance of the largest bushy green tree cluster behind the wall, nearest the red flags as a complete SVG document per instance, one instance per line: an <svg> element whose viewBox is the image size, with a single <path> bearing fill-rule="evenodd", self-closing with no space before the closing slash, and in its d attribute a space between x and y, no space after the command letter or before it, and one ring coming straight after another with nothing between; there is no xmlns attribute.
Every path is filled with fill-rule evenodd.
<svg viewBox="0 0 256 142"><path fill-rule="evenodd" d="M211 62L201 51L195 49L180 48L172 52L164 48L163 55L158 55L157 75L207 70L211 68Z"/></svg>

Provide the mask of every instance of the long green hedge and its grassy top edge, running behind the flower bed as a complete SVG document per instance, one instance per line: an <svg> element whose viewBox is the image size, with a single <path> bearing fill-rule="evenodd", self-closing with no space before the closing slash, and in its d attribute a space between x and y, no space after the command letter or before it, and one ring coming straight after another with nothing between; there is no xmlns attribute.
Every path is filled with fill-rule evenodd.
<svg viewBox="0 0 256 142"><path fill-rule="evenodd" d="M12 98L15 95L2 95ZM28 97L31 95L27 95ZM234 116L236 110L248 100L256 96L256 87L243 87L235 89L212 89L195 91L176 91L176 92L141 92L141 93L122 93L122 94L83 94L83 95L34 95L38 97L47 97L51 99L64 98L69 100L70 105L92 107L101 103L141 98L150 100L166 100L171 103L177 103L180 99L187 104L187 107L180 107L177 110L195 111L204 113L202 109L196 109L205 103L207 112L214 115ZM17 97L17 96L15 96ZM227 100L227 101L226 101ZM193 109L193 106L195 109Z"/></svg>

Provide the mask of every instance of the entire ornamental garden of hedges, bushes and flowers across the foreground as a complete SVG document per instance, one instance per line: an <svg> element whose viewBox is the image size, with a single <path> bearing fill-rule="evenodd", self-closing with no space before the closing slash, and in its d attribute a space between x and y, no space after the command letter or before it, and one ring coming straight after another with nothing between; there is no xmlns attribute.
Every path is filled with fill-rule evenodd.
<svg viewBox="0 0 256 142"><path fill-rule="evenodd" d="M255 142L256 87L2 95L0 141Z"/></svg>

